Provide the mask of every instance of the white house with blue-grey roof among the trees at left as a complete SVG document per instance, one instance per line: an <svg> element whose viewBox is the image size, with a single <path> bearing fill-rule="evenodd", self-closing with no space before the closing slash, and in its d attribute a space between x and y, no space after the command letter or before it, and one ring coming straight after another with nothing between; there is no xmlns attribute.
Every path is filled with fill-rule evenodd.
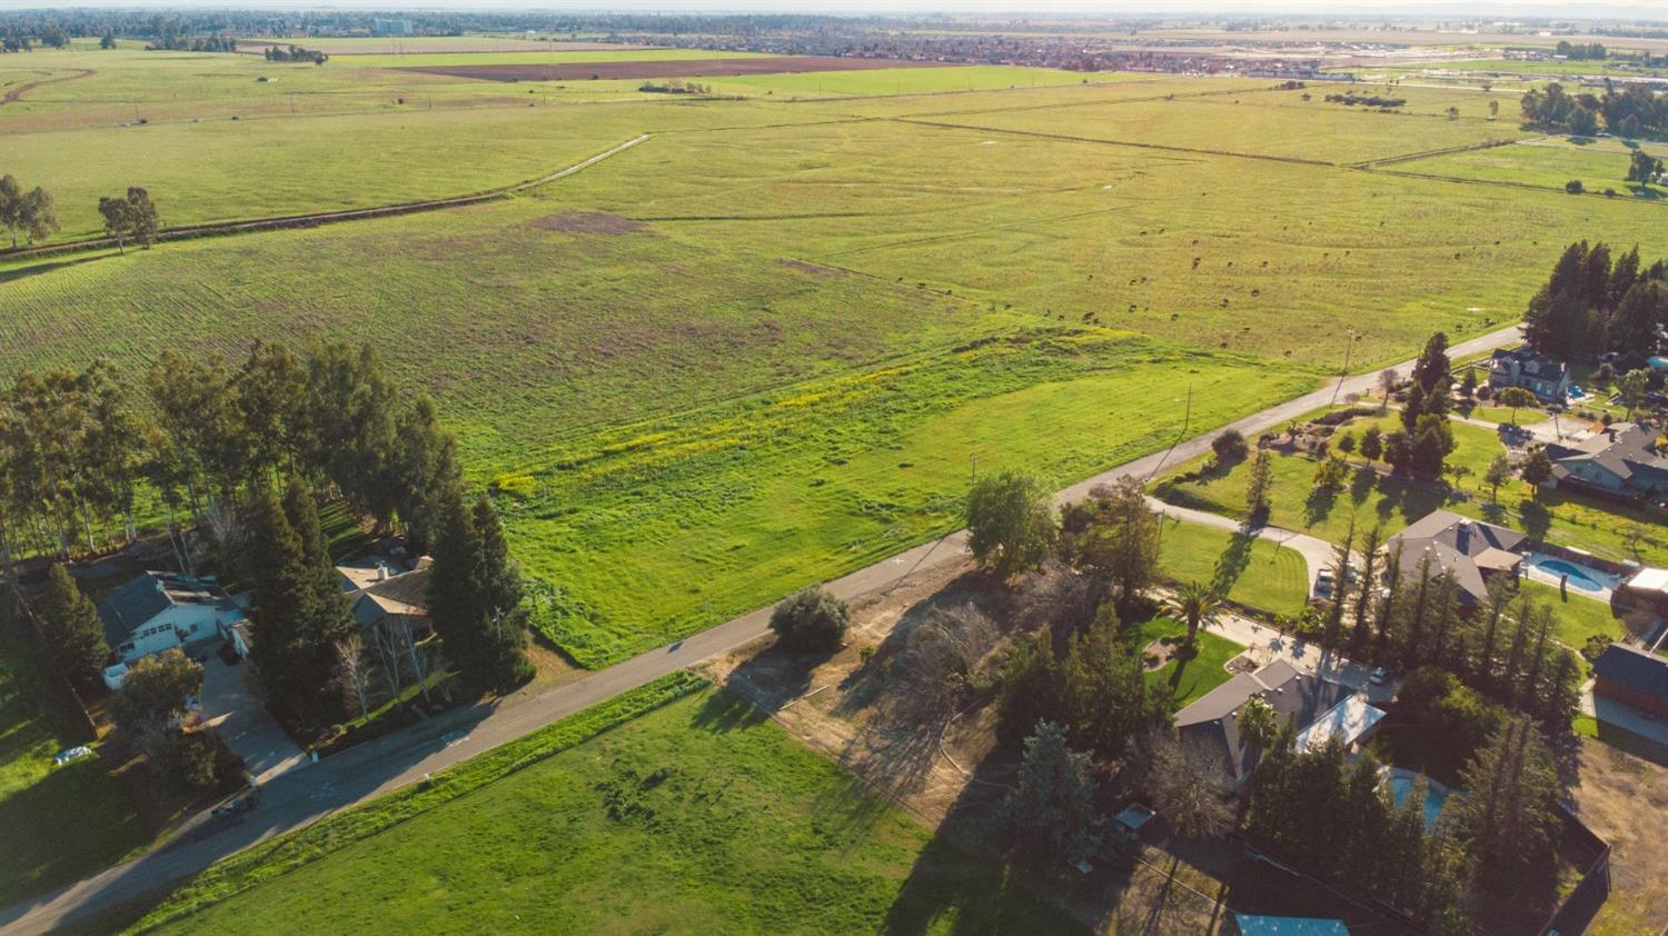
<svg viewBox="0 0 1668 936"><path fill-rule="evenodd" d="M98 602L105 642L120 659L105 682L120 684L127 666L173 647L217 641L244 617L212 582L172 572L140 572ZM115 671L112 674L112 671Z"/></svg>

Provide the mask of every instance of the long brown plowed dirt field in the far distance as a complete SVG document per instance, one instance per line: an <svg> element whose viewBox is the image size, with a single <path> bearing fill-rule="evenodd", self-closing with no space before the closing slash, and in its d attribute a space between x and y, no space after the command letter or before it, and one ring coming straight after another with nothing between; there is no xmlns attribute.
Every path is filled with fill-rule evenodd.
<svg viewBox="0 0 1668 936"><path fill-rule="evenodd" d="M554 65L414 65L427 72L487 82L580 82L585 78L707 78L734 75L797 75L801 72L861 72L869 68L937 68L937 62L781 55L776 58L696 58L674 62L565 62Z"/></svg>

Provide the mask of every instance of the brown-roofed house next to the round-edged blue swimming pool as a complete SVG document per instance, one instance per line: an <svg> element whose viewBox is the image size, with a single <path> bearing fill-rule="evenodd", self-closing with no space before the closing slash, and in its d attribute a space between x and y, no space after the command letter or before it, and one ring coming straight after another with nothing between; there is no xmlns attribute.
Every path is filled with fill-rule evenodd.
<svg viewBox="0 0 1668 936"><path fill-rule="evenodd" d="M1461 611L1476 609L1488 599L1488 579L1516 577L1530 537L1506 527L1461 517L1451 511L1433 511L1384 542L1384 554L1401 551L1401 574L1418 576L1424 557L1431 557L1431 576L1451 572L1454 597ZM1388 572L1388 569L1386 569Z"/></svg>

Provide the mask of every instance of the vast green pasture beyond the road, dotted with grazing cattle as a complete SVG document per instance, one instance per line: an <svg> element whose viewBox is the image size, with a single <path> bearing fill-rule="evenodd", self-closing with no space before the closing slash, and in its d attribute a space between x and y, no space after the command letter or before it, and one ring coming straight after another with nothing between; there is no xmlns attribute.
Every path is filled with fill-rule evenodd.
<svg viewBox="0 0 1668 936"><path fill-rule="evenodd" d="M1191 427L1218 425L1313 387L1351 329L1368 367L1516 319L1566 240L1668 252L1655 205L1331 165L1510 128L1256 80L894 97L882 72L851 72L877 93L547 102L335 62L262 85L247 55L32 63L88 58L97 75L0 108L0 169L55 190L65 235L128 182L175 222L335 209L515 182L652 133L470 209L0 262L13 367L377 344L437 395L470 476L502 487L517 557L557 589L540 626L587 666L952 529L974 455L1076 481L1171 440L1189 384ZM274 88L295 92L294 117ZM85 125L130 120L122 97L152 123ZM267 117L190 122L249 102ZM1428 507L1413 501L1384 512ZM1289 526L1336 536L1343 516ZM1221 547L1206 552L1186 574ZM1278 609L1293 582L1236 587Z"/></svg>

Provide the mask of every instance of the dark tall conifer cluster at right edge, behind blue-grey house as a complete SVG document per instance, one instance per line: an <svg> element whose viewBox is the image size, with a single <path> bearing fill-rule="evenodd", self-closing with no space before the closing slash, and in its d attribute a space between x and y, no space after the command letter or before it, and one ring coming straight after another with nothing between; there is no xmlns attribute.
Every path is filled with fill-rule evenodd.
<svg viewBox="0 0 1668 936"><path fill-rule="evenodd" d="M1641 365L1668 322L1668 262L1645 267L1638 247L1613 257L1603 240L1565 249L1523 314L1523 337L1556 360L1615 350Z"/></svg>

